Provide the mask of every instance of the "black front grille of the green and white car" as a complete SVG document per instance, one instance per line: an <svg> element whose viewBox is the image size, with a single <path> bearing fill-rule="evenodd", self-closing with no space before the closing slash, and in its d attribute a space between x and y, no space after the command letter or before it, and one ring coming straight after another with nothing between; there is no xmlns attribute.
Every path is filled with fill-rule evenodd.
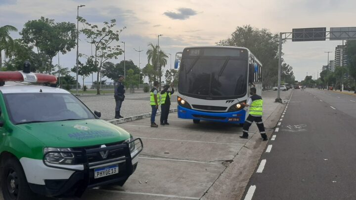
<svg viewBox="0 0 356 200"><path fill-rule="evenodd" d="M123 144L123 143L124 143L124 141L105 144L105 146L106 147L110 147L110 146L114 146L114 145L120 145L120 144ZM100 146L101 145L95 145L95 146L90 146L90 147L76 147L76 148L72 148L72 149L74 151L85 152L85 150L97 149L97 148L100 148ZM109 150L108 155L107 155L107 157L105 159L102 158L102 156L100 155L100 152L89 153L89 154L87 154L87 159L88 159L89 163L97 162L97 161L104 161L104 160L111 160L111 159L116 159L116 158L120 158L120 157L125 157L125 155L122 154L122 153L123 153L122 148ZM78 159L79 163L85 162L85 158L83 158L83 154L79 154L78 153L78 154L75 155L75 157L76 157L76 159Z"/></svg>

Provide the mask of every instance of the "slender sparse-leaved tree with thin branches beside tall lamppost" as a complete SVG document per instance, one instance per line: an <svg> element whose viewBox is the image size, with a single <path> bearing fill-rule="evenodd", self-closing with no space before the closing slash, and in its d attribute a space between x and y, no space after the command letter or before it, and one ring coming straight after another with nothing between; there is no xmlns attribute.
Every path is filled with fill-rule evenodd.
<svg viewBox="0 0 356 200"><path fill-rule="evenodd" d="M103 22L103 27L99 28L97 25L92 25L82 17L78 20L83 23L84 29L81 32L87 37L88 42L94 45L94 63L96 66L97 77L99 82L101 67L109 59L117 59L122 54L123 50L116 42L119 41L120 33L125 29L115 31L116 20L112 19L109 22ZM100 94L99 87L97 87L96 94Z"/></svg>

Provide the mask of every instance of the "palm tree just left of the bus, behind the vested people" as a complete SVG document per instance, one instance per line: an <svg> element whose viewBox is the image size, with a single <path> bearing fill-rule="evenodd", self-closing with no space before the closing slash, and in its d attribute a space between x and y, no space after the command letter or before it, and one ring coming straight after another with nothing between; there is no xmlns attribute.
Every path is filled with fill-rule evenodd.
<svg viewBox="0 0 356 200"><path fill-rule="evenodd" d="M158 71L159 82L161 82L162 67L167 65L168 55L159 49L158 45L154 45L153 43L148 44L146 55L148 63L152 63L154 70ZM154 77L154 80L157 80L157 78Z"/></svg>

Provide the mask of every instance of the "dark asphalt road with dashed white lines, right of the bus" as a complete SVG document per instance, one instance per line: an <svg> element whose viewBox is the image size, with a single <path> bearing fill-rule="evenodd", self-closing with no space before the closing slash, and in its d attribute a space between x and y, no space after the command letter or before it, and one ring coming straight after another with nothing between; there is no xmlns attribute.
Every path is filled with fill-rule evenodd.
<svg viewBox="0 0 356 200"><path fill-rule="evenodd" d="M294 90L242 200L355 200L356 96Z"/></svg>

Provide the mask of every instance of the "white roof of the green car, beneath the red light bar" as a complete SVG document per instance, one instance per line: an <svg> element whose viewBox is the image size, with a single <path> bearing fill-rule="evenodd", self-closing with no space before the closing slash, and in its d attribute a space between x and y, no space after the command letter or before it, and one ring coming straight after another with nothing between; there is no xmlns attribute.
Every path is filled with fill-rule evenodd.
<svg viewBox="0 0 356 200"><path fill-rule="evenodd" d="M3 94L8 93L63 93L70 94L67 90L57 87L50 87L45 85L30 84L26 82L5 82L5 85L0 86L0 91Z"/></svg>

